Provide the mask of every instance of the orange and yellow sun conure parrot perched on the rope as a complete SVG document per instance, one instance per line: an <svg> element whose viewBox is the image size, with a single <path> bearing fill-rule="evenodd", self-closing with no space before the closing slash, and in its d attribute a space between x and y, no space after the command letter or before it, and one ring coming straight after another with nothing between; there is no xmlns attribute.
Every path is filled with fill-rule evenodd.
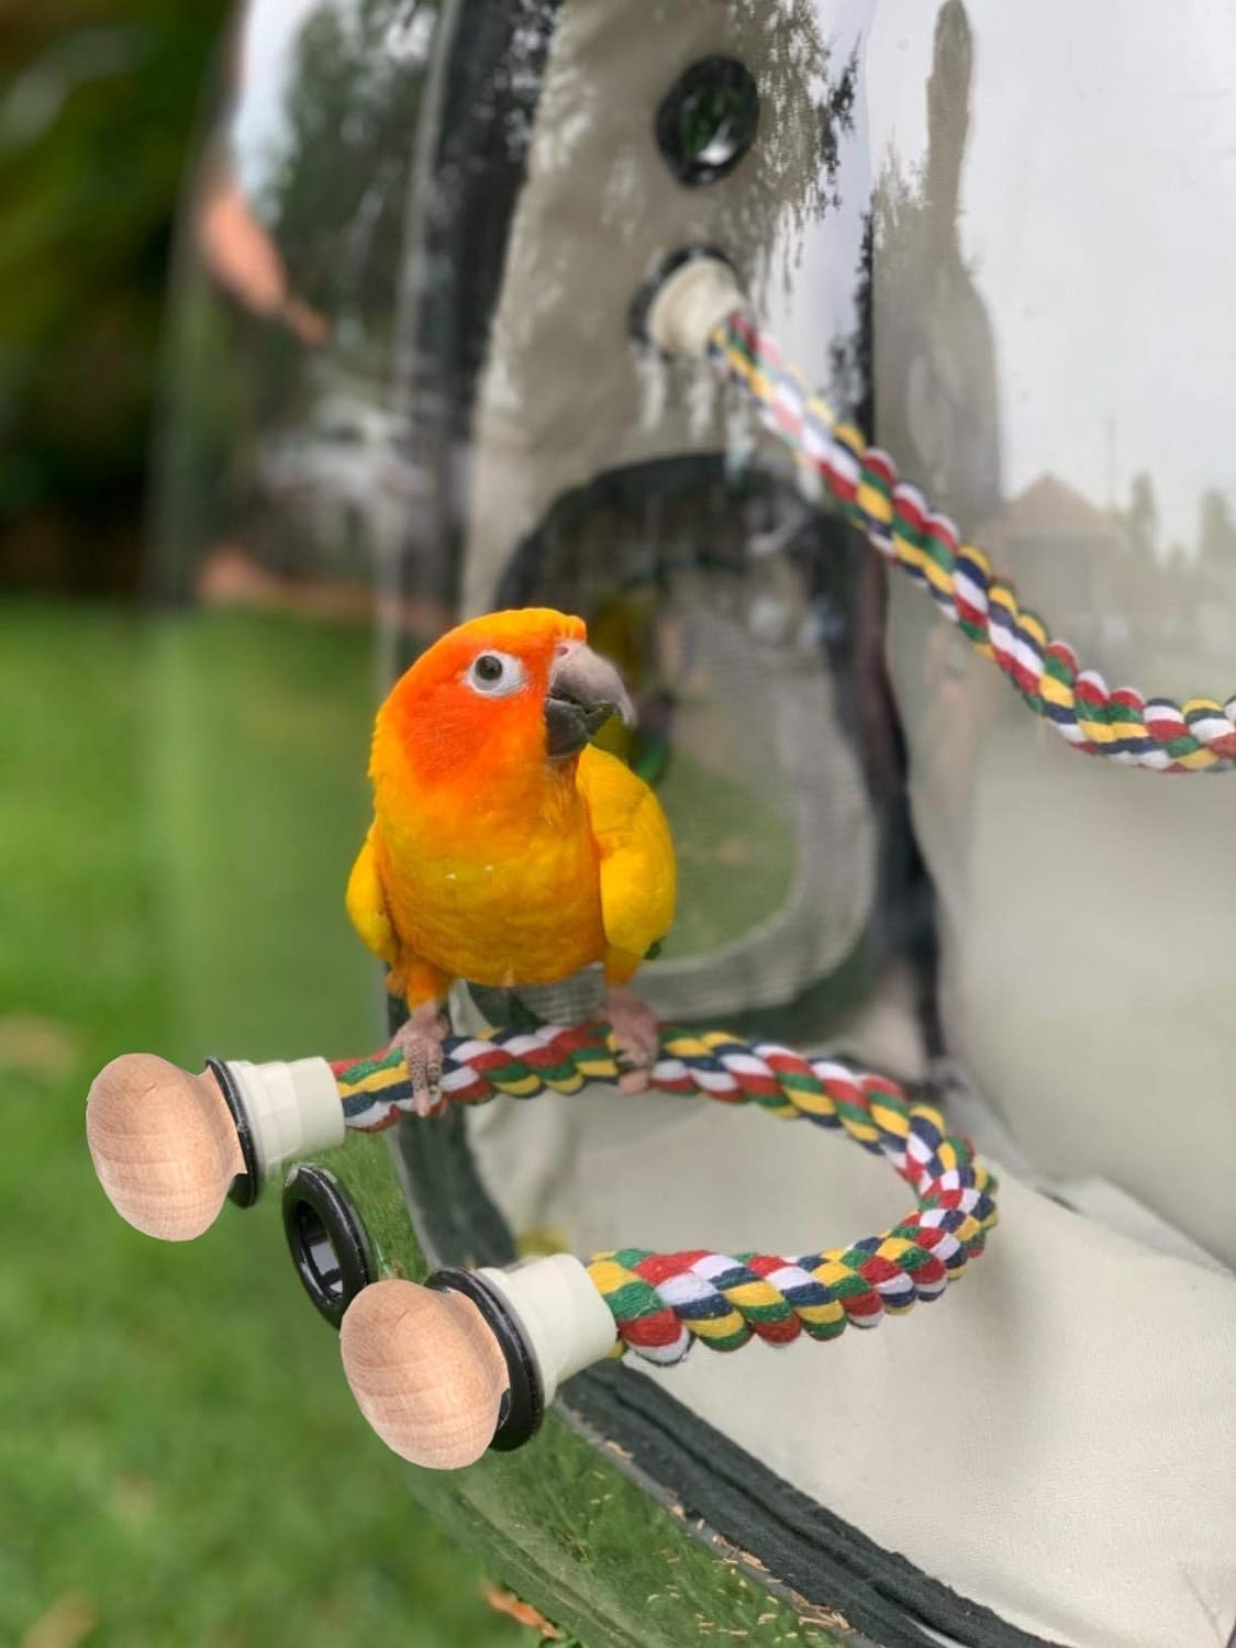
<svg viewBox="0 0 1236 1648"><path fill-rule="evenodd" d="M555 984L597 961L623 1086L648 1083L658 1022L630 981L674 918L674 844L644 781L590 743L615 714L634 719L618 671L549 608L452 630L377 712L348 915L407 1000L396 1040L420 1111L452 979Z"/></svg>

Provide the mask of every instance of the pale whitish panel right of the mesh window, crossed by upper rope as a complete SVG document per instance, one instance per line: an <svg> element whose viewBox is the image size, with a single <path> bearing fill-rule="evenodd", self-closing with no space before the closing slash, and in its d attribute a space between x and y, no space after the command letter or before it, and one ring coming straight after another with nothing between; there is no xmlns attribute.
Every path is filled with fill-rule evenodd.
<svg viewBox="0 0 1236 1648"><path fill-rule="evenodd" d="M1216 87L1236 38L1218 12L1160 30L1091 10L1066 51L1063 26L986 5L877 20L877 432L1107 687L1223 700L1236 203ZM1231 1264L1210 1170L1236 1145L1231 778L1073 753L918 597L892 590L888 659L949 1048L1037 1167L1114 1180ZM1165 1126L1182 1086L1188 1124Z"/></svg>

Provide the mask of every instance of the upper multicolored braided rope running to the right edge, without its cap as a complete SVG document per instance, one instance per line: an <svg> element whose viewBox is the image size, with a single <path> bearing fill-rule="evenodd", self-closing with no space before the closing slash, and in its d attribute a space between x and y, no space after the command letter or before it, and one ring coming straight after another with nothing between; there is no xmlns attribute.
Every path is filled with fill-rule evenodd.
<svg viewBox="0 0 1236 1648"><path fill-rule="evenodd" d="M1098 671L1081 669L1073 648L1018 605L982 550L962 544L953 521L898 480L888 453L842 422L747 311L712 333L709 356L751 396L765 427L822 481L872 547L925 585L976 651L992 658L1035 715L1076 750L1157 773L1236 765L1236 695L1224 704L1145 699L1134 687L1109 691Z"/></svg>

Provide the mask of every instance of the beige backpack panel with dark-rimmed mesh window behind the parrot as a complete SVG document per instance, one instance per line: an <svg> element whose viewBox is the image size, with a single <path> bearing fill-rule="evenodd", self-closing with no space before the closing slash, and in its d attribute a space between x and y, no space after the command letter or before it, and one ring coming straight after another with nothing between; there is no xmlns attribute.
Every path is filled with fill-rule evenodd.
<svg viewBox="0 0 1236 1648"><path fill-rule="evenodd" d="M400 391L414 442L438 460L430 486L456 611L578 611L633 689L638 728L608 742L654 784L681 864L679 915L646 994L672 1020L755 1028L758 1014L768 1033L811 1037L905 948L918 877L903 829L898 840L897 738L878 691L878 575L854 534L801 496L755 419L697 369L659 359L633 316L659 262L722 242L844 392L867 394L867 218L831 208L854 133L857 41L829 41L796 8L788 73L761 99L725 66L748 73L776 53L766 16L738 8L720 21L689 8L666 23L697 71L674 125L662 31L634 13L514 7L506 38L489 16L478 40L460 8L442 41L443 153L427 165L412 254L425 269L455 257L473 287L447 282L443 297L437 282L410 283L419 343ZM478 66L486 49L496 56L476 102L453 58ZM763 140L714 178L745 119ZM819 130L831 160L814 175ZM460 171L452 152L491 157L491 132L504 163ZM671 170L687 168L692 143L702 183ZM475 241L498 255L488 308L466 260ZM845 280L806 303L801 270L834 259ZM417 545L405 583L422 572ZM580 1017L595 984L524 1005Z"/></svg>

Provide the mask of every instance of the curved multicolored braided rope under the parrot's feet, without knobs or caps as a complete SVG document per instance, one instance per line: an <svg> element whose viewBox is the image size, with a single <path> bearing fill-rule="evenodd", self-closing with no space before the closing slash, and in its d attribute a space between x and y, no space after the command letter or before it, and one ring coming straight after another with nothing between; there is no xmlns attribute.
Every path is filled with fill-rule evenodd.
<svg viewBox="0 0 1236 1648"><path fill-rule="evenodd" d="M377 1132L412 1112L407 1065L396 1050L331 1066L348 1127ZM578 1093L620 1074L605 1025L494 1032L443 1045L442 1104L483 1104L498 1094L531 1099ZM832 1058L803 1058L771 1042L725 1032L666 1030L653 1086L723 1104L758 1104L771 1116L840 1129L883 1155L918 1206L901 1223L824 1252L720 1254L709 1249L597 1254L588 1274L610 1307L616 1350L669 1365L694 1340L737 1350L750 1338L786 1345L806 1333L836 1338L847 1323L875 1327L916 1300L929 1302L982 1252L995 1224L995 1180L966 1139L948 1137L933 1104L897 1083Z"/></svg>

